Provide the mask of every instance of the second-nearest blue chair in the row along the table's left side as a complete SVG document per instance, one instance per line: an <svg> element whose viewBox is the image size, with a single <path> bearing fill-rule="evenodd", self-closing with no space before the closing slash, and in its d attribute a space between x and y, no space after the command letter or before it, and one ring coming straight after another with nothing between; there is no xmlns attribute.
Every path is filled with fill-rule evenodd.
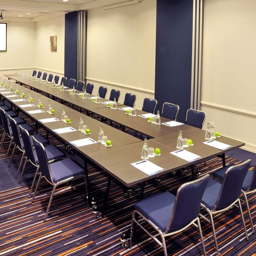
<svg viewBox="0 0 256 256"><path fill-rule="evenodd" d="M20 180L21 180L21 178L23 176L23 173L24 173L24 170L26 168L27 162L30 162L32 165L37 167L37 169L35 171L35 176L34 176L34 179L33 179L32 185L31 185L31 189L30 189L30 192L29 192L29 197L30 197L31 193L33 191L33 188L34 188L34 185L35 185L35 180L37 178L37 174L38 174L39 167L40 167L39 163L38 163L37 153L36 153L35 149L33 148L34 147L34 143L33 143L32 136L34 136L34 138L36 138L44 146L46 146L45 147L45 152L46 152L46 157L47 157L49 163L52 163L52 162L55 162L55 161L59 161L59 160L65 158L66 155L65 155L65 153L63 151L61 151L56 146L49 145L49 141L46 140L43 136L41 136L39 134L29 135L27 130L22 128L21 126L19 126L19 130L20 130L20 135L21 135L21 138L22 138L23 147L24 147L25 153L26 153L25 163L24 163L22 172L20 174Z"/></svg>

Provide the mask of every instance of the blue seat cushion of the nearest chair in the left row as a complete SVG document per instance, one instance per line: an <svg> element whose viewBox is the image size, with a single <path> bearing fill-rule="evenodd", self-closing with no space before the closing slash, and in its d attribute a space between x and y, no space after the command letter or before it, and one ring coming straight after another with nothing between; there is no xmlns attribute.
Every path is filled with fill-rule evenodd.
<svg viewBox="0 0 256 256"><path fill-rule="evenodd" d="M69 158L50 163L50 169L55 183L80 174L84 175L84 170Z"/></svg>

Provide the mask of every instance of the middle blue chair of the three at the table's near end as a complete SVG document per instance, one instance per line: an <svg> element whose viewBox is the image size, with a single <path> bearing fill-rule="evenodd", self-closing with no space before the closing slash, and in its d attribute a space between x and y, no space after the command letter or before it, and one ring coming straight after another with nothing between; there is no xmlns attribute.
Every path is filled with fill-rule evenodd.
<svg viewBox="0 0 256 256"><path fill-rule="evenodd" d="M220 184L218 181L210 179L206 190L204 191L201 206L204 210L206 210L207 214L209 215L209 219L202 214L200 214L200 216L207 222L211 223L212 233L218 255L219 247L213 221L214 214L227 211L234 205L238 204L242 223L244 226L244 233L246 239L248 240L248 234L239 197L241 194L244 178L250 166L251 159L248 159L245 162L227 168L222 184Z"/></svg>

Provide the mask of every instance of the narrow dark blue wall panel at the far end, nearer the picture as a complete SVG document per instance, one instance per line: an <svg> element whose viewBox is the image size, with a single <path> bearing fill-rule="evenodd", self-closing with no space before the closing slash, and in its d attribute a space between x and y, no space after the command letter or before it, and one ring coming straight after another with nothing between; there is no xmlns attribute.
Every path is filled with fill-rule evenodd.
<svg viewBox="0 0 256 256"><path fill-rule="evenodd" d="M77 80L78 54L78 12L65 14L65 60L64 73L68 78Z"/></svg>

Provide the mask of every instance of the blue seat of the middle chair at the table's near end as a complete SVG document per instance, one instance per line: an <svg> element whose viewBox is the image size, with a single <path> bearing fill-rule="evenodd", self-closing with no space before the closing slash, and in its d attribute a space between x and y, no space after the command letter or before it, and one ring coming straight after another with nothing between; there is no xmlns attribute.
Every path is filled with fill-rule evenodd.
<svg viewBox="0 0 256 256"><path fill-rule="evenodd" d="M208 207L210 210L214 208L220 189L221 189L221 184L219 182L212 179L209 180L207 187L204 191L202 203L206 207Z"/></svg>

